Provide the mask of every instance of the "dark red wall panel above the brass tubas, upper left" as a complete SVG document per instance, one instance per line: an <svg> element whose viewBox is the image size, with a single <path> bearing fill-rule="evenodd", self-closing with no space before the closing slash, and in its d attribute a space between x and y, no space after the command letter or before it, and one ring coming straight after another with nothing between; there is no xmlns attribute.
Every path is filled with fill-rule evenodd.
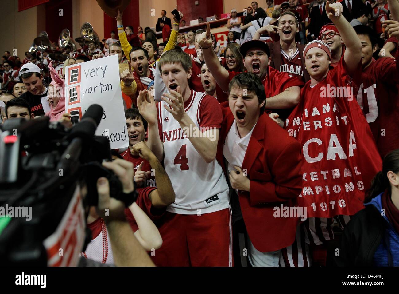
<svg viewBox="0 0 399 294"><path fill-rule="evenodd" d="M72 0L51 0L46 6L46 32L51 42L58 44L59 34L67 28L72 34ZM59 16L63 9L63 16Z"/></svg>

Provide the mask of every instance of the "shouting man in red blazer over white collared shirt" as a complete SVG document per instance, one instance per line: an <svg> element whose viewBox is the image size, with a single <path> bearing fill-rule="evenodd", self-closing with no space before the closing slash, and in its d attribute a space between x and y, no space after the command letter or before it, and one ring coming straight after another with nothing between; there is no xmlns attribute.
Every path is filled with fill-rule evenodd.
<svg viewBox="0 0 399 294"><path fill-rule="evenodd" d="M294 206L301 191L300 144L264 113L265 89L255 74L235 76L229 92L217 159L236 192L230 200L235 262L241 259L238 228L244 223L251 265L279 266L281 249L295 238L298 218L276 218L275 207Z"/></svg>

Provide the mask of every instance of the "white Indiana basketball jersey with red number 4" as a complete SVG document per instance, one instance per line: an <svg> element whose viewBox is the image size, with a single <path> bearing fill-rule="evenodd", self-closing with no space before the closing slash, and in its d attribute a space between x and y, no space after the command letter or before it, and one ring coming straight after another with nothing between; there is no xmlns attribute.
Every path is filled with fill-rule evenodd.
<svg viewBox="0 0 399 294"><path fill-rule="evenodd" d="M205 95L191 90L190 104L185 108L198 128L199 106ZM162 126L164 166L176 194L176 201L166 210L177 214L202 214L228 208L229 187L220 164L216 159L205 162L183 133L178 121L164 108L168 104L164 101L159 103L158 120Z"/></svg>

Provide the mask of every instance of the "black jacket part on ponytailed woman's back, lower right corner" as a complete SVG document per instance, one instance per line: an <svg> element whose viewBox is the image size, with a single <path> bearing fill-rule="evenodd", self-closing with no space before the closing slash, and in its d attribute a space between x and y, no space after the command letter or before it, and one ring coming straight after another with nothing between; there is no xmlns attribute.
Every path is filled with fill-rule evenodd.
<svg viewBox="0 0 399 294"><path fill-rule="evenodd" d="M340 244L336 266L373 266L373 256L385 231L381 212L374 205L366 205L346 226Z"/></svg>

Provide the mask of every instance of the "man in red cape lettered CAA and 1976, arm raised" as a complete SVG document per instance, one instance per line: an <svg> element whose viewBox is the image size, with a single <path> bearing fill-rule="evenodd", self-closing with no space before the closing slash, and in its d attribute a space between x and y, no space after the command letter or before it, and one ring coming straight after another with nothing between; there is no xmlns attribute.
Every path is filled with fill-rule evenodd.
<svg viewBox="0 0 399 294"><path fill-rule="evenodd" d="M332 54L324 42L313 41L305 47L310 81L285 125L302 145L303 189L298 199L309 217L299 227L300 238L293 246L302 240L310 244L314 263L321 265L326 264L326 244L334 238L332 218L361 210L364 192L381 170L370 128L354 99L361 73L361 42L342 16L340 2L327 1L326 12L346 45L344 57L332 69Z"/></svg>

